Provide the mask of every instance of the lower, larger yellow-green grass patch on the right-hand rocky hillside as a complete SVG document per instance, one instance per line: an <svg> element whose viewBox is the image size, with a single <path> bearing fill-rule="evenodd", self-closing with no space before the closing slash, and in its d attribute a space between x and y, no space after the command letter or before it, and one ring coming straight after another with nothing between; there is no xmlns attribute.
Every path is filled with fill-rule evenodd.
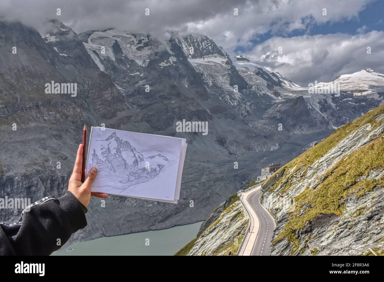
<svg viewBox="0 0 384 282"><path fill-rule="evenodd" d="M341 216L344 210L341 204L348 196L354 194L354 197L359 197L376 186L383 186L384 179L356 181L361 176L367 176L371 169L384 167L383 155L384 139L377 138L342 158L324 174L326 180L316 190L306 189L296 196L295 201L298 207L310 205L310 208L307 208L300 216L298 216L300 208L295 209L283 231L273 242L278 242L286 237L288 241L293 242L292 251L295 252L299 245L295 230L301 230L307 221L312 221L320 214Z"/></svg>

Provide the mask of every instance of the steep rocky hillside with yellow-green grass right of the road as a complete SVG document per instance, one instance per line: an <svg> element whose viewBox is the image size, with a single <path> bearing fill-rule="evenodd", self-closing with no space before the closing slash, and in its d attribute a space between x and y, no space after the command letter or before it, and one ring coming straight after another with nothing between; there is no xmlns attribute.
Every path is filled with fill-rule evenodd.
<svg viewBox="0 0 384 282"><path fill-rule="evenodd" d="M271 255L384 253L383 132L384 105L266 181L261 201L277 222Z"/></svg>

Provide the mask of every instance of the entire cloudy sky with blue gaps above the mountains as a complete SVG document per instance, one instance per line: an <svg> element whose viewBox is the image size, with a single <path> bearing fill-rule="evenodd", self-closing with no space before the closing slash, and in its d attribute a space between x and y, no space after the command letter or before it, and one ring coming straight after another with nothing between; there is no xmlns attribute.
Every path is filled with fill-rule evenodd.
<svg viewBox="0 0 384 282"><path fill-rule="evenodd" d="M201 33L227 53L302 86L368 67L384 73L383 12L382 0L0 1L0 15L40 32L46 19L57 18L77 33L110 27L154 36L166 30Z"/></svg>

